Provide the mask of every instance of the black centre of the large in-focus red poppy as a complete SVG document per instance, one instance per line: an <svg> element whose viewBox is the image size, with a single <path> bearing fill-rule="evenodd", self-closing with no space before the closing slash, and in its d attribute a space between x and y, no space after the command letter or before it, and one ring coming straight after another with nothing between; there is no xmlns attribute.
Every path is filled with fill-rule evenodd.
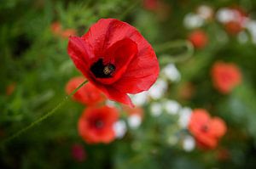
<svg viewBox="0 0 256 169"><path fill-rule="evenodd" d="M90 71L98 78L112 77L114 70L115 66L113 64L104 65L103 59L98 59L98 61L90 66Z"/></svg>

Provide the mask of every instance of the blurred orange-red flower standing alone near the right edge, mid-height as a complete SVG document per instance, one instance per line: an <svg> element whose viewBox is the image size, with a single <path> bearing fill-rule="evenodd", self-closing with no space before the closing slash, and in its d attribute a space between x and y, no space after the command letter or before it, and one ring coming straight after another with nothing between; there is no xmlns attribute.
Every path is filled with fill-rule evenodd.
<svg viewBox="0 0 256 169"><path fill-rule="evenodd" d="M212 82L220 93L230 93L241 83L241 71L235 64L218 61L212 66Z"/></svg>

